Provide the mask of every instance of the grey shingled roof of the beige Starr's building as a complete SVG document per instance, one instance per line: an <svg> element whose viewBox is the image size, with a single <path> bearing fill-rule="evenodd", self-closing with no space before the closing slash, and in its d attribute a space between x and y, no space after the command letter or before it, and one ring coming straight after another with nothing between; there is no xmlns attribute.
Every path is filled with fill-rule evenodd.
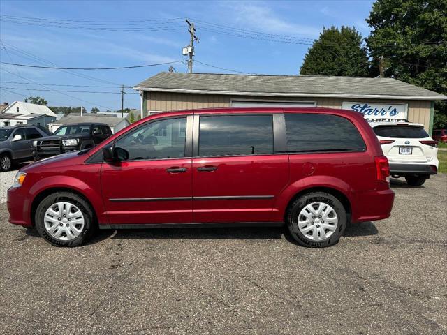
<svg viewBox="0 0 447 335"><path fill-rule="evenodd" d="M444 100L447 96L393 78L227 75L162 72L134 87L143 91L249 96L323 96Z"/></svg>

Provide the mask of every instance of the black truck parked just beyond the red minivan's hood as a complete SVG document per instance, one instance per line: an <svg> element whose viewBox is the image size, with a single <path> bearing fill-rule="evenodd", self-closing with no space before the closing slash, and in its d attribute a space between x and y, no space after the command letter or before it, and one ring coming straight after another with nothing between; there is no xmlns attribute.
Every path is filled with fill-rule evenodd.
<svg viewBox="0 0 447 335"><path fill-rule="evenodd" d="M86 122L60 126L52 136L32 142L33 157L38 161L64 152L93 148L111 135L107 124Z"/></svg>

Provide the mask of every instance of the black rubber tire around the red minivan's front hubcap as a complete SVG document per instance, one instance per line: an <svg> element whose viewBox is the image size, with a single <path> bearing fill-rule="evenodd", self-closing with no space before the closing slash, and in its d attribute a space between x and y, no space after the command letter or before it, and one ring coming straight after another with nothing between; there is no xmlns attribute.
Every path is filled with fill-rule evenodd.
<svg viewBox="0 0 447 335"><path fill-rule="evenodd" d="M81 211L82 215L84 216L84 227L82 228L82 231L78 237L70 240L57 239L52 237L52 235L45 228L45 212L57 202L69 202L74 204ZM41 203L38 204L35 222L38 233L53 246L80 246L91 236L91 233L94 232L94 228L96 226L94 221L94 211L91 209L91 206L79 195L71 192L57 192L48 195L45 199L43 199Z"/></svg>

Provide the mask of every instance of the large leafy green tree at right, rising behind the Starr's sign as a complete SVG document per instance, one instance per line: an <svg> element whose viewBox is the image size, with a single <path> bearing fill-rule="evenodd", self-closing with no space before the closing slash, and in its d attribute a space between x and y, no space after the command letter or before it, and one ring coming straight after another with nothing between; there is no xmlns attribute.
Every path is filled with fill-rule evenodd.
<svg viewBox="0 0 447 335"><path fill-rule="evenodd" d="M446 13L446 0L377 0L366 20L372 75L379 75L383 57L385 77L447 95ZM434 127L446 121L447 102L436 101Z"/></svg>

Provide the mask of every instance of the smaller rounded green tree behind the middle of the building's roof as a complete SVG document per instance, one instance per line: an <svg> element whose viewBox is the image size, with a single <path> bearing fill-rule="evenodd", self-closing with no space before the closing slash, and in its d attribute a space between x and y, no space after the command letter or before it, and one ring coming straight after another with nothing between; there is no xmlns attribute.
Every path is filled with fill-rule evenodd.
<svg viewBox="0 0 447 335"><path fill-rule="evenodd" d="M362 35L354 27L323 28L305 55L300 75L346 75L366 77L369 74L367 50Z"/></svg>

